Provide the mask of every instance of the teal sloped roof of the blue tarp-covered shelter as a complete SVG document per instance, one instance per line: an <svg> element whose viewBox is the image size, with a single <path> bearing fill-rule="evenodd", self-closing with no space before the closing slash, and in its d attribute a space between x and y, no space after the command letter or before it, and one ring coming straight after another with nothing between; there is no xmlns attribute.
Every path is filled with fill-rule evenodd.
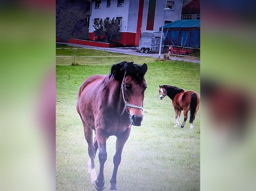
<svg viewBox="0 0 256 191"><path fill-rule="evenodd" d="M198 28L198 27L200 27L200 20L177 20L163 26L163 28Z"/></svg>

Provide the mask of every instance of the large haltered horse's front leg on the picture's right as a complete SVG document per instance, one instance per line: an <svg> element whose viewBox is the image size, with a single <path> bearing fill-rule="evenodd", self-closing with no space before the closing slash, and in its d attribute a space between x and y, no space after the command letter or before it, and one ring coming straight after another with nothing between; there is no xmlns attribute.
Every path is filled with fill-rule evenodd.
<svg viewBox="0 0 256 191"><path fill-rule="evenodd" d="M114 163L114 170L112 173L112 177L110 179L110 190L117 190L116 188L116 175L117 175L117 170L118 166L121 162L121 154L123 151L123 147L125 142L127 141L129 135L130 135L131 128L126 129L120 136L117 137L116 139L116 153L113 157L113 163Z"/></svg>

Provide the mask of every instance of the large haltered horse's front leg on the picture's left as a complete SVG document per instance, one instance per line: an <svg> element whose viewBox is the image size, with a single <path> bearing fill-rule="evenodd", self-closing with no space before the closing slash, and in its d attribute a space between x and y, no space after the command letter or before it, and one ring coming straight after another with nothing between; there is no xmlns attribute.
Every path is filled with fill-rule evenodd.
<svg viewBox="0 0 256 191"><path fill-rule="evenodd" d="M100 127L98 127L100 128ZM107 150L106 150L106 141L108 136L101 129L96 129L96 140L98 142L99 147L99 162L100 162L100 170L97 176L97 180L95 181L95 188L98 191L105 189L105 181L104 181L104 164L107 160Z"/></svg>

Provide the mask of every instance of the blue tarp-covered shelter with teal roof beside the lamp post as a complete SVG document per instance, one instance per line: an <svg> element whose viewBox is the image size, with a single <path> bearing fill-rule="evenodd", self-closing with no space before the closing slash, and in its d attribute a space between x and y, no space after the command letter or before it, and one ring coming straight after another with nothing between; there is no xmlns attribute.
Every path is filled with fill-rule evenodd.
<svg viewBox="0 0 256 191"><path fill-rule="evenodd" d="M177 20L164 25L163 32L164 46L200 48L200 20Z"/></svg>

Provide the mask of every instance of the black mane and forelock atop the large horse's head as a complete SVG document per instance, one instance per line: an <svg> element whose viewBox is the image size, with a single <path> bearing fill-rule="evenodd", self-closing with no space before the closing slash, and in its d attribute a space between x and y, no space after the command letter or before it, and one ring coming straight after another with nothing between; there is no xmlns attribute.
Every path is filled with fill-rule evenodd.
<svg viewBox="0 0 256 191"><path fill-rule="evenodd" d="M109 78L113 77L115 80L122 81L128 64L133 62L123 61L118 64L113 64L110 69ZM133 64L134 73L129 74L134 76L138 81L143 80L144 74L141 72L141 66Z"/></svg>

